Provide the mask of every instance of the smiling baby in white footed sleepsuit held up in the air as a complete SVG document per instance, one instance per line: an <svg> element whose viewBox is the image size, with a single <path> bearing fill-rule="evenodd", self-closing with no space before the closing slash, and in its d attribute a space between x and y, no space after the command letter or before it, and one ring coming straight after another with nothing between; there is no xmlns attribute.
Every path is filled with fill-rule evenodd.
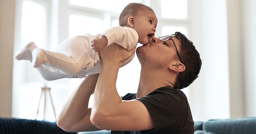
<svg viewBox="0 0 256 134"><path fill-rule="evenodd" d="M117 43L127 50L134 48L138 42L148 43L155 36L157 18L150 7L131 3L121 12L119 25L100 35L85 34L68 38L55 51L39 49L34 42L30 42L14 58L29 60L48 81L97 74L102 66L99 51L111 43ZM121 67L133 57L134 54Z"/></svg>

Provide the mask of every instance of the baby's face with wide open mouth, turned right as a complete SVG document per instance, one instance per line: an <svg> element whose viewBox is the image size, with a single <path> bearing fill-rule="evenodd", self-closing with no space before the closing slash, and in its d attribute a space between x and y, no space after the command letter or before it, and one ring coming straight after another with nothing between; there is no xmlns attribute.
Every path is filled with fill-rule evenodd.
<svg viewBox="0 0 256 134"><path fill-rule="evenodd" d="M156 25L156 14L150 10L144 10L135 17L133 29L139 35L139 43L146 44L155 37Z"/></svg>

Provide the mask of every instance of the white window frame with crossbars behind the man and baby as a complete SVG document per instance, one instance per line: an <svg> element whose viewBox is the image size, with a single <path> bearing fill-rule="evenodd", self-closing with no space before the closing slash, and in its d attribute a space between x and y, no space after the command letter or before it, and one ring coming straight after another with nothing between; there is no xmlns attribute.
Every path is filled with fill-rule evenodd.
<svg viewBox="0 0 256 134"><path fill-rule="evenodd" d="M85 15L102 18L103 23L110 20L110 26L106 26L105 30L108 27L111 27L113 20L119 19L119 13L103 11L99 9L93 9L89 7L82 7L77 5L72 5L69 3L69 0L17 0L16 1L16 22L15 22L15 46L14 52L18 51L21 47L21 10L23 1L29 1L36 4L43 5L46 12L46 35L45 35L45 49L54 51L58 44L63 40L68 38L68 22L69 15ZM158 18L158 24L156 28L156 37L162 36L162 27L164 26L178 26L187 28L188 35L192 33L191 28L191 0L188 0L188 18L187 19L166 19L162 18L161 15L161 0L142 0L142 3L149 3L150 7L156 12ZM58 9L55 7L58 6ZM60 21L61 20L61 21ZM23 66L23 67L22 67ZM27 69L24 63L21 63L14 59L14 68L13 68L13 106L12 112L13 117L19 118L19 86L22 83L25 83L24 76L28 76L28 73L24 71ZM28 71L28 70L27 70ZM40 75L39 75L40 76ZM67 81L67 80L64 80Z"/></svg>

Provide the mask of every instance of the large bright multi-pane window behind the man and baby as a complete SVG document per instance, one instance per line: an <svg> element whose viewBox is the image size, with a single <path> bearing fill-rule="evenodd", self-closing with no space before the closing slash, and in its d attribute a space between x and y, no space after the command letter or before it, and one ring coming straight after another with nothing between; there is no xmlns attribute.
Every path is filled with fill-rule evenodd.
<svg viewBox="0 0 256 134"><path fill-rule="evenodd" d="M156 37L171 35L176 31L180 31L186 36L190 33L187 29L189 26L187 0L63 0L61 4L56 4L51 0L21 0L21 2L20 9L17 9L22 11L20 20L18 20L20 21L20 29L17 29L17 36L21 36L19 38L19 48L33 41L39 48L52 48L51 50L53 51L58 42L60 43L68 37L86 33L99 34L110 27L118 26L120 12L127 4L132 2L141 2L148 6L152 5L151 7L156 11L156 16L158 17ZM155 4L156 2L162 4ZM174 11L171 11L169 7L166 7L166 5L172 4L179 5L177 6L179 12L176 12L177 9L172 8ZM56 21L56 19L59 20ZM140 46L140 44L137 46ZM27 61L15 62L19 62L20 66L19 68L16 67L16 72L19 73L14 73L13 76L17 79L15 81L16 84L19 85L16 89L19 99L15 100L18 104L17 107L19 107L19 118L36 118L41 93L40 87L43 87L44 83L52 88L53 105L58 116L67 98L82 80L60 79L54 82L47 82L41 78L35 68L31 67L31 63ZM139 79L140 63L135 55L128 65L119 69L116 83L119 95L124 96L129 92L136 93ZM184 92L188 96L188 91ZM89 106L92 106L92 98L93 96ZM46 114L48 117L46 120L55 121L49 102L47 102L47 105ZM41 109L42 107L39 110ZM39 111L37 119L43 119L42 111Z"/></svg>

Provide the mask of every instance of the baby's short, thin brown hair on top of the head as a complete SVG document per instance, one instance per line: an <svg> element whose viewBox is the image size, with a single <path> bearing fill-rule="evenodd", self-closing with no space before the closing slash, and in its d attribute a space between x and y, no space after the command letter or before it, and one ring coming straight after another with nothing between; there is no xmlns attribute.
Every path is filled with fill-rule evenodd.
<svg viewBox="0 0 256 134"><path fill-rule="evenodd" d="M136 16L139 11L144 11L145 9L148 9L153 13L155 13L151 7L146 6L144 4L141 4L141 3L128 4L119 16L119 26L122 26L122 27L126 26L128 24L127 20L130 16Z"/></svg>

